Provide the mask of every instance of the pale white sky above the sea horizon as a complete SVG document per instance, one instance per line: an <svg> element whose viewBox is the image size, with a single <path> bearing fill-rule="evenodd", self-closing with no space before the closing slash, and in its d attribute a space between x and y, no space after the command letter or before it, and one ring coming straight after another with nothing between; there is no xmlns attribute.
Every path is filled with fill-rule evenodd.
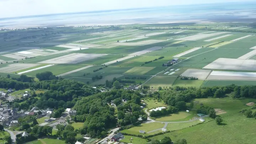
<svg viewBox="0 0 256 144"><path fill-rule="evenodd" d="M0 18L253 0L0 0Z"/></svg>

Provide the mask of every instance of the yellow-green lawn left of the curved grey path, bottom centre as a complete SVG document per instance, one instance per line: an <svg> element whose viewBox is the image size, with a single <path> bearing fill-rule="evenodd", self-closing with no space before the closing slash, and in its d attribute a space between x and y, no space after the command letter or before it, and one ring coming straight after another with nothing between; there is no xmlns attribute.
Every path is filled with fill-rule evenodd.
<svg viewBox="0 0 256 144"><path fill-rule="evenodd" d="M155 129L159 129L164 127L164 123L159 123L159 122L153 122L153 123L142 123L139 126L136 127L132 127L129 129L124 129L121 131L124 133L128 133L128 134L137 134L137 135L143 135L143 133L139 133L139 130L144 130L145 132L149 132L151 130L155 130Z"/></svg>

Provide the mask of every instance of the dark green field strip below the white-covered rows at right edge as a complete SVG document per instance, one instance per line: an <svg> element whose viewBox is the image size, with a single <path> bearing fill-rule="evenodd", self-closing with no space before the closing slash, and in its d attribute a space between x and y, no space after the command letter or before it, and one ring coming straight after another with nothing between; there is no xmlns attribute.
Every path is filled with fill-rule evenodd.
<svg viewBox="0 0 256 144"><path fill-rule="evenodd" d="M201 85L201 87L226 86L231 84L235 84L238 86L256 85L256 81L253 81L253 80L205 80Z"/></svg>

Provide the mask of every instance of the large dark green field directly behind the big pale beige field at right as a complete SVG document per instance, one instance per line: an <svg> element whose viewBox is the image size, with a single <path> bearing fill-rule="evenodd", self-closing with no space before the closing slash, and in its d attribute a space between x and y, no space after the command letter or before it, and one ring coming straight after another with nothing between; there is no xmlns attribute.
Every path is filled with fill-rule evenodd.
<svg viewBox="0 0 256 144"><path fill-rule="evenodd" d="M196 55L175 65L175 67L203 68L218 58L239 58L252 49L217 48L209 52Z"/></svg>

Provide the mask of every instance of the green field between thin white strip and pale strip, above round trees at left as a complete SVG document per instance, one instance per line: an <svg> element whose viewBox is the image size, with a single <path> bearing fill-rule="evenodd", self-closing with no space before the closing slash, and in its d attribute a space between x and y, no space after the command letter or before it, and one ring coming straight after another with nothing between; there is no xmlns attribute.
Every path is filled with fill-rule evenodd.
<svg viewBox="0 0 256 144"><path fill-rule="evenodd" d="M82 68L84 66L85 65L81 65L81 64L58 64L58 65L49 66L47 68L31 71L26 74L30 76L36 76L37 73L42 73L44 71L51 71L54 75L59 75L59 74L66 73L68 71Z"/></svg>

